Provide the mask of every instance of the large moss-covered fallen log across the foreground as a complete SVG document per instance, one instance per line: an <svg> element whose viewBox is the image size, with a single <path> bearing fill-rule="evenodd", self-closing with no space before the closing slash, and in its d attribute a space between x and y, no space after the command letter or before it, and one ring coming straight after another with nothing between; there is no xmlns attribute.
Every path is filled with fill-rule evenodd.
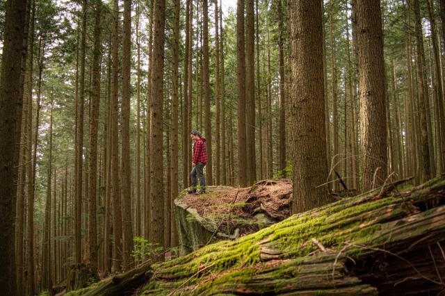
<svg viewBox="0 0 445 296"><path fill-rule="evenodd" d="M444 177L394 183L156 263L141 293L435 295L444 240Z"/></svg>

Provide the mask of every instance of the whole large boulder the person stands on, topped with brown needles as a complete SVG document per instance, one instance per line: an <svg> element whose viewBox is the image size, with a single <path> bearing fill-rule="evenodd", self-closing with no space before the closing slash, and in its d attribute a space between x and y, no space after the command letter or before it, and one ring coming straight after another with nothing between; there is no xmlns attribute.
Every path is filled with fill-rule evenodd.
<svg viewBox="0 0 445 296"><path fill-rule="evenodd" d="M240 238L289 217L291 189L291 181L283 179L248 188L209 186L202 195L182 191L175 199L179 254Z"/></svg>

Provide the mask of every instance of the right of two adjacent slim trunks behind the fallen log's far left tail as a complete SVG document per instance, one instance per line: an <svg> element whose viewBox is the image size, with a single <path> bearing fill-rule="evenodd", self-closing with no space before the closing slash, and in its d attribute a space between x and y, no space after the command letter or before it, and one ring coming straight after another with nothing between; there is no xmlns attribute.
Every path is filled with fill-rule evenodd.
<svg viewBox="0 0 445 296"><path fill-rule="evenodd" d="M124 0L124 30L122 42L122 229L124 270L129 270L133 251L131 223L131 170L130 170L130 67L131 67L131 0Z"/></svg>

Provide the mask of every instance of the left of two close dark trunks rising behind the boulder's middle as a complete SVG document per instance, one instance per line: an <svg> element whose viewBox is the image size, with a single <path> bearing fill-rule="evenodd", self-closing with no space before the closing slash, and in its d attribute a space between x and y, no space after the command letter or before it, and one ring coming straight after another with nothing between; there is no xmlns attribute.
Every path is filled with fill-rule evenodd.
<svg viewBox="0 0 445 296"><path fill-rule="evenodd" d="M238 77L238 184L248 185L247 149L245 134L245 51L244 51L244 0L236 4L236 60Z"/></svg>

